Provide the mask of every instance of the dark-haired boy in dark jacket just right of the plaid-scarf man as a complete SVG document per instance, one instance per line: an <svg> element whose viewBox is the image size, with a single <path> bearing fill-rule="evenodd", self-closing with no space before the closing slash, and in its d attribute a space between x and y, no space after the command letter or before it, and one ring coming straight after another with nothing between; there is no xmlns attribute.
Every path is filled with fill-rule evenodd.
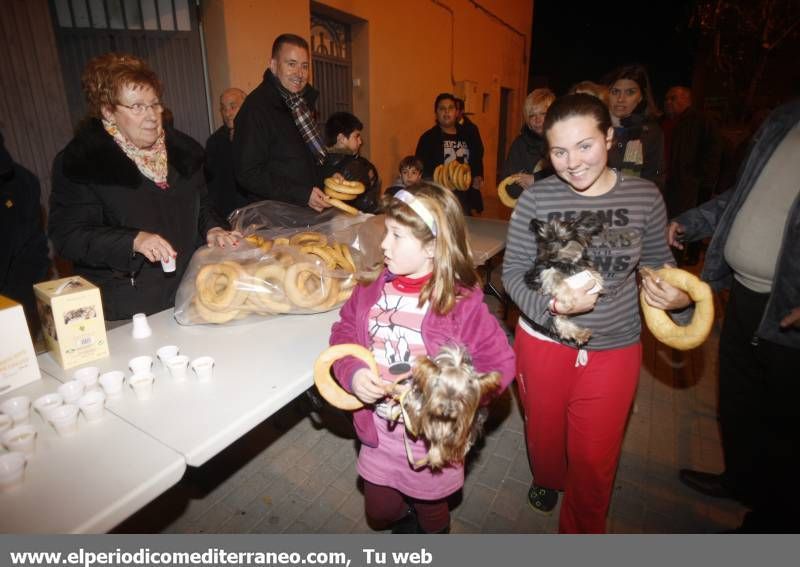
<svg viewBox="0 0 800 567"><path fill-rule="evenodd" d="M349 112L335 112L325 123L325 145L327 154L322 163L322 175L327 178L339 173L347 181L359 181L365 191L347 204L365 213L378 209L381 181L378 170L364 157L358 155L361 144L361 131L364 125Z"/></svg>

